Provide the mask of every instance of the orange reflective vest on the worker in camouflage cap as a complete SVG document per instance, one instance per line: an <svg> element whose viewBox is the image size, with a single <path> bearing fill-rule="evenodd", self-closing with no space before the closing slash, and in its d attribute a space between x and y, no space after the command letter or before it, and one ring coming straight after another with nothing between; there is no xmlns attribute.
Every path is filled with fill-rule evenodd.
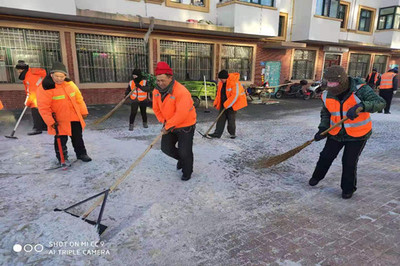
<svg viewBox="0 0 400 266"><path fill-rule="evenodd" d="M357 85L357 90L359 90L365 84ZM360 103L361 100L357 97L356 92L353 92L346 101L343 102L342 106L342 113L340 112L340 101L333 98L327 98L328 91L324 91L322 93L322 101L325 104L325 107L331 113L331 121L330 124L333 126L337 122L339 122L344 116L346 116L347 111L355 106L356 104ZM358 117L354 120L346 120L343 123L344 129L346 133L351 137L362 137L366 135L368 132L372 130L372 121L369 113L361 112L359 113ZM336 127L332 129L329 134L330 135L337 135L341 127Z"/></svg>

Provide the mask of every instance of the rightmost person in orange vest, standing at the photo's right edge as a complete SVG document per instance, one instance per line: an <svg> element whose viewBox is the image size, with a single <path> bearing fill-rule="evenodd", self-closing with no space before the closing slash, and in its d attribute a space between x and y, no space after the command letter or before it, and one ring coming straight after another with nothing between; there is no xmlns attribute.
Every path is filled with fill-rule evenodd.
<svg viewBox="0 0 400 266"><path fill-rule="evenodd" d="M397 79L397 73L397 67L390 69L388 72L382 75L379 83L379 96L386 101L385 114L390 114L390 105L392 104L393 95L397 92L399 83Z"/></svg>

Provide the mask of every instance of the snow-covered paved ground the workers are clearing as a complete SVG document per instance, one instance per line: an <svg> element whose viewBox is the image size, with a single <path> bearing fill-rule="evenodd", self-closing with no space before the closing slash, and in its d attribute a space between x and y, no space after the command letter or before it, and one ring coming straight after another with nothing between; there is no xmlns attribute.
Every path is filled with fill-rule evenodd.
<svg viewBox="0 0 400 266"><path fill-rule="evenodd" d="M46 171L55 160L53 137L26 136L29 121L24 120L17 140L0 138L0 264L240 265L231 254L236 246L227 247L232 235L238 236L242 243L238 249L243 250L244 242L251 243L250 229L260 232L269 225L276 228L279 215L286 215L285 219L293 223L287 226L288 232L297 232L292 227L300 227L302 222L290 221L290 214L304 206L320 206L323 201L327 206L340 206L356 201L360 209L365 209L368 202L360 199L369 197L367 187L379 187L377 178L383 182L388 175L397 173L400 177L400 167L391 163L395 161L392 157L400 155L399 104L395 99L391 115L372 115L374 133L360 158L359 190L349 201L340 198L340 157L321 186L307 185L324 141L313 143L276 167L253 167L261 157L283 153L312 139L319 123L319 108L306 112L282 110L274 113L274 117L282 115L281 119L265 120L244 119L251 114L243 111L235 140L227 133L212 140L196 133L190 181L180 180L176 161L160 151L159 143L150 150L109 195L102 220L108 229L100 238L93 226L53 209L66 208L110 187L157 136L160 125L151 123L148 129L137 126L130 132L126 126L117 126L120 123L112 117L101 130L88 127L84 132L92 162L77 161L66 171ZM9 134L14 117L3 114L0 119L0 133ZM137 120L140 122L140 115ZM200 122L197 129L204 132L210 124ZM68 148L73 160L70 140ZM381 163L382 158L390 159L383 160L390 167ZM385 171L389 174L383 175ZM399 183L390 182L392 179L386 185L398 192ZM397 204L399 197L397 194L394 201ZM81 215L91 203L72 212ZM340 212L340 207L336 208L328 208L330 215L342 217L343 213L335 214ZM95 220L98 211L89 218ZM308 217L316 223L324 223L326 218ZM28 252L31 248L33 251ZM288 253L289 248L286 250ZM294 263L285 259L282 250L271 254L276 256L258 261Z"/></svg>

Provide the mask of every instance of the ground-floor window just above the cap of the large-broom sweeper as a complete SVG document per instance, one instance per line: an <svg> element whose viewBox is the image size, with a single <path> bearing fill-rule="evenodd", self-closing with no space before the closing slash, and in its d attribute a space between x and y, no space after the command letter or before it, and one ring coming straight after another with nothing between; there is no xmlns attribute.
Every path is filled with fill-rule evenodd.
<svg viewBox="0 0 400 266"><path fill-rule="evenodd" d="M316 54L314 50L295 50L292 79L314 79Z"/></svg>

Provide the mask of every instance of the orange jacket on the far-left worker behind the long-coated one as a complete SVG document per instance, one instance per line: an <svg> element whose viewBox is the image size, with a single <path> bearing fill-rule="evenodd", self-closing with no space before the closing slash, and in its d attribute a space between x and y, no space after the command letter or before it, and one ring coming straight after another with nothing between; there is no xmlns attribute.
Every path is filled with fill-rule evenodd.
<svg viewBox="0 0 400 266"><path fill-rule="evenodd" d="M46 77L46 70L42 68L29 68L23 81L25 86L25 105L30 108L37 108L36 91L42 80Z"/></svg>

